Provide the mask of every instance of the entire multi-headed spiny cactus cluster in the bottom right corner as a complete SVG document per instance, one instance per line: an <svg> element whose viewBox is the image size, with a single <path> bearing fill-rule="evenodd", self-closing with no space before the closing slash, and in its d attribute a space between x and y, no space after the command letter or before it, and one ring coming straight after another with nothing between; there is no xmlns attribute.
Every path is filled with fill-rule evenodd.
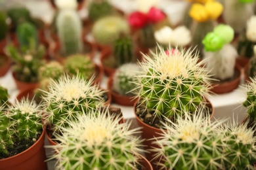
<svg viewBox="0 0 256 170"><path fill-rule="evenodd" d="M247 124L222 125L199 111L168 121L157 139L156 158L169 169L253 169L256 160L253 129Z"/></svg>

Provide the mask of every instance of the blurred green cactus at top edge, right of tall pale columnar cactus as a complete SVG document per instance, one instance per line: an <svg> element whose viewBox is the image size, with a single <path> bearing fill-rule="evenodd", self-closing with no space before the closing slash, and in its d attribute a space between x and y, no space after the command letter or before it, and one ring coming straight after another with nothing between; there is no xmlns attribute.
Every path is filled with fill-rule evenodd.
<svg viewBox="0 0 256 170"><path fill-rule="evenodd" d="M88 7L88 17L95 22L99 18L113 14L114 10L112 5L106 0L91 1Z"/></svg>

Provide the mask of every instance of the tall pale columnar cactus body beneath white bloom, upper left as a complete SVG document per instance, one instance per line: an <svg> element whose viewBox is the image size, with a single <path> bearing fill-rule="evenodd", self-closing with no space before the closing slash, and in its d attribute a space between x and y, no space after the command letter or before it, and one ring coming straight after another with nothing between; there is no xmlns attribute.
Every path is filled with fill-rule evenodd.
<svg viewBox="0 0 256 170"><path fill-rule="evenodd" d="M82 24L76 10L60 10L56 18L56 27L63 56L83 52Z"/></svg>

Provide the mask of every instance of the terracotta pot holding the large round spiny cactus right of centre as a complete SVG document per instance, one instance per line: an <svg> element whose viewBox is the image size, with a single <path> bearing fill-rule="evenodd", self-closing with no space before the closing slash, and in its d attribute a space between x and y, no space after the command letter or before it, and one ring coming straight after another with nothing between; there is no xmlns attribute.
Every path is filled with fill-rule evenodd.
<svg viewBox="0 0 256 170"><path fill-rule="evenodd" d="M211 118L213 118L214 115L214 108L212 103L206 99L207 102L209 103L209 107L211 108L212 112L211 112ZM154 142L156 141L156 139L154 139L155 137L161 137L161 135L163 134L161 129L150 126L146 123L144 123L142 120L140 120L140 118L137 116L136 114L136 108L137 108L137 103L138 100L136 101L135 105L133 106L133 111L135 112L135 119L137 120L137 124L139 127L142 127L142 129L140 129L141 132L141 137L142 139L145 139L145 141L143 142L144 144L144 150L150 151L150 149L152 148L158 148L159 146L154 144ZM159 163L164 163L162 160L160 160L160 158L158 159L154 159L156 152L145 152L145 157L148 161L150 161L153 169L161 169L163 167L161 167L161 165L159 165ZM154 160L153 160L154 159Z"/></svg>

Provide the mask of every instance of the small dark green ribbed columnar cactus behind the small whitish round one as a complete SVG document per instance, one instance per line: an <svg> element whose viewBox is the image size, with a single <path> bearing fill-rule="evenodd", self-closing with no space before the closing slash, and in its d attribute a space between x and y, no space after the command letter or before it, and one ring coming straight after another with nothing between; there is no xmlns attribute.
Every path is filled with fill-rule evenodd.
<svg viewBox="0 0 256 170"><path fill-rule="evenodd" d="M114 41L114 58L117 67L125 63L135 62L133 41L130 37L120 37Z"/></svg>

